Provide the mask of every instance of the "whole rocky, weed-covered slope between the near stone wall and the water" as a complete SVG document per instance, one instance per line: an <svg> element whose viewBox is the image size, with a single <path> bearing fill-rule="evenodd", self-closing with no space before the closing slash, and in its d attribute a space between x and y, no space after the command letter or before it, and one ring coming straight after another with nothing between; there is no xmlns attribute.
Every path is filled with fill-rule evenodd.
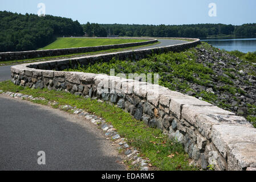
<svg viewBox="0 0 256 182"><path fill-rule="evenodd" d="M142 60L101 62L78 69L90 73L159 73L159 84L247 117L256 127L256 64L201 43L178 53Z"/></svg>

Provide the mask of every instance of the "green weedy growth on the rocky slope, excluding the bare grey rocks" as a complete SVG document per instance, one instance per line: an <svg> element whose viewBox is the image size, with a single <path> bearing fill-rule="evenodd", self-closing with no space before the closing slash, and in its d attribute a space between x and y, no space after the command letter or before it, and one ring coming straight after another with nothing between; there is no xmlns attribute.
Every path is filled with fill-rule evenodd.
<svg viewBox="0 0 256 182"><path fill-rule="evenodd" d="M207 43L202 43L197 46L198 48L204 48L215 52L220 52L226 54L226 51L219 50L217 48L211 47ZM242 66L246 65L246 61L242 60L241 64L237 67L223 68L223 76L218 75L213 69L213 64L197 63L197 51L194 48L186 49L182 52L168 52L162 53L160 55L149 56L147 59L141 59L137 61L133 60L118 60L112 59L111 61L105 63L99 61L95 64L86 65L84 67L80 66L78 69L67 69L65 71L79 71L86 73L105 73L109 75L110 69L115 69L115 74L118 73L159 73L159 85L165 86L170 90L176 90L178 92L186 94L188 90L191 90L192 84L197 86L206 86L213 88L214 92L219 92L220 94L235 94L239 93L245 95L245 91L234 86L234 82L238 80L238 70L244 69ZM253 56L251 56L253 57ZM221 59L226 59L221 57ZM252 60L252 59L250 59ZM232 64L234 60L230 59L228 64ZM233 67L233 68L232 68ZM234 69L235 68L235 69ZM249 67L247 67L249 68ZM251 69L251 75L256 75L255 71ZM218 75L218 76L216 76ZM219 82L223 86L216 86L213 82ZM244 82L239 78L239 81ZM250 83L249 85L250 86ZM232 110L233 105L230 105L229 101L223 100L218 97L216 94L207 93L207 92L198 92L197 90L191 90L196 93L196 97L202 97L204 101L210 102L211 104L217 105L222 109ZM250 114L252 117L255 114ZM248 115L245 115L247 117ZM249 117L249 121L253 123L253 118Z"/></svg>

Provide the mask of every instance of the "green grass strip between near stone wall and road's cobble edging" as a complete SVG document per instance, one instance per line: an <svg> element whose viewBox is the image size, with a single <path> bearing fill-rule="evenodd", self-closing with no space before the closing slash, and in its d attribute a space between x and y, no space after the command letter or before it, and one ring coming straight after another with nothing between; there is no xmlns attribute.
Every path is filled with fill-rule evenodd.
<svg viewBox="0 0 256 182"><path fill-rule="evenodd" d="M168 140L167 136L162 134L159 129L146 126L116 106L74 96L63 91L23 88L14 85L11 81L0 82L0 90L43 97L46 98L45 101L32 102L47 105L48 101L56 101L59 105L76 106L104 118L106 122L111 123L117 129L121 137L128 139L131 146L140 150L142 158L150 159L152 166L156 167L155 169L166 171L198 169L189 166L188 154L185 154L181 144ZM56 108L59 105L53 107ZM168 157L171 154L173 157Z"/></svg>

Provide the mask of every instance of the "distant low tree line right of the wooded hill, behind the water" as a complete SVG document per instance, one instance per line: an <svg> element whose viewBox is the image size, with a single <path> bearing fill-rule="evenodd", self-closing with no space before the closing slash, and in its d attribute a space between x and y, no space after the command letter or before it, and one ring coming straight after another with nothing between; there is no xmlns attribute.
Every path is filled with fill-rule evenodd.
<svg viewBox="0 0 256 182"><path fill-rule="evenodd" d="M206 38L209 36L256 36L256 23L233 26L231 24L140 25L97 24L82 25L88 36L152 36L177 38Z"/></svg>

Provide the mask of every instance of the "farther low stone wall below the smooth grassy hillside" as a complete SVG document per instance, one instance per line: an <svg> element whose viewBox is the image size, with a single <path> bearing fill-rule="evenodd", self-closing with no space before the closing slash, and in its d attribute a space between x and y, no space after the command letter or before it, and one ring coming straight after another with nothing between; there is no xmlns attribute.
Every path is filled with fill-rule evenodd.
<svg viewBox="0 0 256 182"><path fill-rule="evenodd" d="M97 39L101 39L101 38L97 38ZM115 38L111 38L111 39L115 39ZM134 39L142 39L142 38L134 38ZM148 39L145 39L145 40L148 40ZM49 49L49 50L22 51L22 52L0 52L0 61L22 60L22 59L31 59L31 58L47 57L47 56L59 56L59 55L68 55L72 53L96 52L96 51L103 51L108 49L144 46L144 45L152 44L156 42L157 42L157 39L149 39L148 41L145 41L145 42L115 44L115 45L108 45L108 46Z"/></svg>

